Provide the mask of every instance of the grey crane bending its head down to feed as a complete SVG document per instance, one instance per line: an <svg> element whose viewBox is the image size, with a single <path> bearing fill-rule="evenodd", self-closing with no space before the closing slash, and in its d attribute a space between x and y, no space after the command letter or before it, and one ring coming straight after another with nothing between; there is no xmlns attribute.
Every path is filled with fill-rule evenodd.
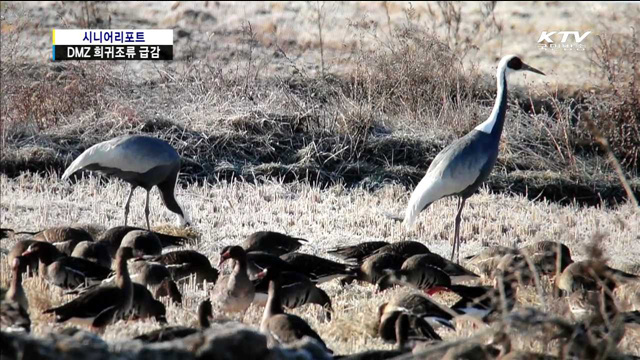
<svg viewBox="0 0 640 360"><path fill-rule="evenodd" d="M129 203L138 187L147 190L144 209L149 225L149 192L154 186L160 190L164 205L178 215L181 226L191 223L188 214L175 197L175 186L180 171L180 155L169 143L149 136L124 135L93 145L83 152L65 170L62 179L84 169L112 175L131 184L131 192L124 206L124 225L127 225Z"/></svg>

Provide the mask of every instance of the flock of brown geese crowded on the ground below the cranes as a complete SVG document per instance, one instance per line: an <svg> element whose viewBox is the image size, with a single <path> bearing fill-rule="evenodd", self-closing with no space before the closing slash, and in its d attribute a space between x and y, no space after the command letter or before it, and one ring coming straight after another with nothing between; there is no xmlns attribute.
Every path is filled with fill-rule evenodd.
<svg viewBox="0 0 640 360"><path fill-rule="evenodd" d="M221 315L242 317L250 306L257 306L264 311L255 326L269 346L311 338L327 358L336 359L387 359L407 354L430 359L595 359L598 357L585 355L584 348L575 345L577 333L584 332L596 349L593 351L601 354L598 349L604 345L599 342L614 341L615 347L625 327L640 325L640 311L622 311L614 295L619 286L640 284L640 277L598 259L573 261L569 248L559 242L540 241L518 249L490 247L466 257L463 266L415 241L371 241L333 248L327 255L339 260L334 261L299 252L305 239L260 231L239 245L223 247L216 268L195 250L165 249L187 247L192 244L190 239L135 227L108 229L95 241L88 232L72 227L46 229L29 236L16 241L7 255L12 277L1 308L5 332L30 331L24 276L40 277L48 286L76 295L43 311L51 321L70 322L98 334L121 320L155 321L162 326L160 329L139 334L133 340L175 341L205 331L212 323L230 321ZM95 245L92 248L96 251L80 253L69 245L78 247L83 242ZM109 249L117 244L112 258ZM158 254L156 247L165 252ZM100 260L104 258L109 261ZM227 261L233 263L232 270L223 275L222 265ZM478 285L483 280L492 281L493 286ZM182 306L180 284L187 281L208 290L208 298L197 309L199 327L167 323L165 304ZM303 317L287 312L312 304L324 310L326 321L332 321L337 314L331 297L319 286L328 281L342 286L356 281L371 286L374 294L404 289L395 291L389 301L379 304L377 314L371 314L378 319L378 336L396 344L394 350L333 354L330 344ZM471 318L487 326L504 321L516 308L518 289L535 287L536 281L552 285L553 296L569 309L564 327L557 330L562 344L559 357L513 350L505 332L494 334L481 352L468 350L476 357L456 353L462 351L460 346L420 356L442 343L446 332L455 331L458 319ZM441 293L455 294L457 301L447 305L438 300L436 294ZM568 356L576 351L579 355Z"/></svg>

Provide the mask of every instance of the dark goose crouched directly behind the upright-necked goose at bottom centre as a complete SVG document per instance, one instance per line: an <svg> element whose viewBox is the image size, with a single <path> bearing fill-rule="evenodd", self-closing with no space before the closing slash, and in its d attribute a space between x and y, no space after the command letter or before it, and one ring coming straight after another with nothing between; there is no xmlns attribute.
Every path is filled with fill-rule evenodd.
<svg viewBox="0 0 640 360"><path fill-rule="evenodd" d="M261 279L254 280L256 294L254 303L265 306L268 300L269 281L277 278L280 283L280 301L288 309L295 309L305 304L318 304L326 309L326 317L331 321L331 299L327 293L316 286L307 276L298 272L284 271L278 268L269 269Z"/></svg>

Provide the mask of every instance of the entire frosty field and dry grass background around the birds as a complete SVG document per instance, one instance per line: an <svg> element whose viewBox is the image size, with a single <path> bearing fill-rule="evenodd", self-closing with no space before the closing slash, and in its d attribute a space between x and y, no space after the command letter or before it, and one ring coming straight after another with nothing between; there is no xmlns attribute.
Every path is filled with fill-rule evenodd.
<svg viewBox="0 0 640 360"><path fill-rule="evenodd" d="M403 212L435 154L486 118L497 60L517 53L547 76L510 78L498 164L463 214L462 255L558 240L582 259L602 234L610 264L640 273L638 208L626 203L588 127L608 140L638 197L636 4L3 2L0 10L2 227L121 224L124 184L89 174L72 184L60 174L99 141L149 133L183 156L178 199L194 219L195 247L214 261L222 246L266 229L308 238L302 250L317 255L359 241L409 239L446 256L454 199L434 204L411 231L382 214ZM52 63L54 27L174 28L175 60ZM545 52L536 45L543 30L593 34L584 52ZM134 195L137 225L143 201L142 192ZM154 225L173 223L156 190L151 213ZM5 285L6 260L0 265ZM26 284L34 309L67 300L34 279ZM312 307L296 313L336 353L382 347L373 314L399 290L323 287L334 321L323 322ZM187 292L169 322L194 323L205 296ZM531 289L520 301L542 305ZM563 314L561 305L553 311ZM261 312L252 308L244 321L258 324ZM56 328L38 313L36 334ZM155 327L118 324L105 337ZM635 331L621 350L640 354Z"/></svg>

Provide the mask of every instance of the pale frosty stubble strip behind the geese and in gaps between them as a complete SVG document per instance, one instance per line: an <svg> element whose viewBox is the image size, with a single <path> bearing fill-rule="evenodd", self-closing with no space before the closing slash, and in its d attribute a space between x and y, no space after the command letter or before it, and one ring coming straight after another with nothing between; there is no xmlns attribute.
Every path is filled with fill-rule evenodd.
<svg viewBox="0 0 640 360"><path fill-rule="evenodd" d="M110 227L121 224L122 204L128 192L126 184L113 181L102 183L88 178L75 185L37 175L24 175L17 179L6 176L2 181L3 227L40 229L71 223L90 223ZM142 193L134 196L130 220L143 224ZM405 231L401 224L388 220L383 212L398 213L405 206L408 194L397 185L387 185L375 192L333 186L321 190L304 183L269 183L253 185L240 182L220 182L188 185L178 191L178 199L194 219L194 230L201 241L192 248L201 251L215 262L219 250L229 244L238 244L257 230L276 230L311 240L301 250L327 256L326 250L337 245L383 239L398 241L420 240L441 255L449 254L449 237L453 233L455 201L443 200L434 204L421 216L415 230ZM474 196L463 214L463 255L471 254L486 245L523 246L539 240L557 240L567 244L576 259L589 256L586 245L596 234L604 234L600 247L610 259L611 266L632 268L640 256L638 247L638 209L624 205L616 210L559 206L547 202L531 203L523 197L490 195L486 191ZM163 208L156 191L151 198L151 221L158 229L173 223L173 215ZM4 247L12 241L3 241ZM7 284L6 260L2 260L2 284ZM488 282L487 282L488 283ZM40 310L70 300L62 291L51 288L36 279L28 279L25 286L34 318L33 331L43 334L69 325L55 325ZM351 285L341 288L337 281L322 285L331 296L336 313L332 322L325 322L323 312L316 307L294 311L307 319L337 353L348 353L368 348L388 347L375 336L373 322L377 306L398 291L375 294L373 286ZM550 296L551 287L543 280L542 288ZM194 324L197 303L207 296L193 287L184 291L183 307L168 305L170 323ZM632 299L629 289L620 289L621 299ZM40 294L47 294L43 296ZM626 295L625 295L626 294ZM373 299L373 301L372 301ZM451 305L453 296L437 297ZM631 300L626 300L631 301ZM623 302L625 309L632 304ZM569 318L562 304L551 298L545 303L552 314ZM555 304L555 305L554 305ZM541 307L535 289L519 292L519 306ZM636 305L637 306L637 305ZM262 308L252 307L244 322L258 326ZM238 317L234 317L238 319ZM107 328L108 340L126 339L158 327L153 321L118 323ZM474 334L475 331L460 324L457 332L441 331L444 338L453 339ZM622 351L640 354L640 334L629 330L620 345ZM539 341L518 338L518 348L543 350ZM547 349L552 350L549 346Z"/></svg>

